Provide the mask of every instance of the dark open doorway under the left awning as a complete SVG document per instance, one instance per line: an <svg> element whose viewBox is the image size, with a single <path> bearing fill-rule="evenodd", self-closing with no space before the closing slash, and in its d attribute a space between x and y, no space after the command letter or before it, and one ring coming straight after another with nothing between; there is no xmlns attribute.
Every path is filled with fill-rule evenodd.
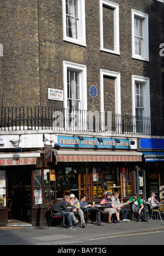
<svg viewBox="0 0 164 256"><path fill-rule="evenodd" d="M31 175L29 167L8 171L8 224L31 223Z"/></svg>

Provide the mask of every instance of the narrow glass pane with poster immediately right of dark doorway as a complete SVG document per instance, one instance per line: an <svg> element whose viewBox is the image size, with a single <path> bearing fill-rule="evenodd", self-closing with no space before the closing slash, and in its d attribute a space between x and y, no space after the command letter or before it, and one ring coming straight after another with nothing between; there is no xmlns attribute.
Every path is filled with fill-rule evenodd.
<svg viewBox="0 0 164 256"><path fill-rule="evenodd" d="M42 205L42 169L33 172L34 205Z"/></svg>

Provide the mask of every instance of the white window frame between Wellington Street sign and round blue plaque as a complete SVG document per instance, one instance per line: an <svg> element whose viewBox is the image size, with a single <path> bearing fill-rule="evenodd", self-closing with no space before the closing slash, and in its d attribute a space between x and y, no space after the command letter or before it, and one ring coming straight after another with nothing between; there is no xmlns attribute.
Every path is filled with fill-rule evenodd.
<svg viewBox="0 0 164 256"><path fill-rule="evenodd" d="M64 83L64 107L68 108L67 98L67 69L79 71L79 84L80 84L80 101L81 110L87 110L87 79L86 79L86 66L68 61L63 61L63 83ZM82 86L83 85L83 86Z"/></svg>

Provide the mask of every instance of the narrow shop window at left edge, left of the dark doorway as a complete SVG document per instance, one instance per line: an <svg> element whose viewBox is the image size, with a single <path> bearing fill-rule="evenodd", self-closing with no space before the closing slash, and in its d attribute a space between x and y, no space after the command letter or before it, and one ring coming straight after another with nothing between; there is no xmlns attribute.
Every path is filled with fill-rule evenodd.
<svg viewBox="0 0 164 256"><path fill-rule="evenodd" d="M0 207L6 206L6 173L0 171Z"/></svg>

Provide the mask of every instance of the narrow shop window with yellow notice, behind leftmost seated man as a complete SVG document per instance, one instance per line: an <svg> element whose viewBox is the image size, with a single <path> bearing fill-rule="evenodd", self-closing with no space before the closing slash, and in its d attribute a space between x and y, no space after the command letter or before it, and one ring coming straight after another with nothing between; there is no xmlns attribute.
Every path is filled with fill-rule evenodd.
<svg viewBox="0 0 164 256"><path fill-rule="evenodd" d="M56 174L55 170L44 170L44 205L55 203Z"/></svg>

